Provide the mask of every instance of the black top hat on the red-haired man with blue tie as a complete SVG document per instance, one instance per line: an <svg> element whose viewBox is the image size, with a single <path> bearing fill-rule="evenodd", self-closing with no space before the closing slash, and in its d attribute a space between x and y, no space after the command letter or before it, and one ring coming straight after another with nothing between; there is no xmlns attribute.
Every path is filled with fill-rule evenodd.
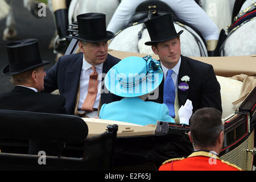
<svg viewBox="0 0 256 182"><path fill-rule="evenodd" d="M176 32L172 14L157 16L145 22L151 41L145 42L145 45L152 46L157 42L171 40L179 36L183 30Z"/></svg>

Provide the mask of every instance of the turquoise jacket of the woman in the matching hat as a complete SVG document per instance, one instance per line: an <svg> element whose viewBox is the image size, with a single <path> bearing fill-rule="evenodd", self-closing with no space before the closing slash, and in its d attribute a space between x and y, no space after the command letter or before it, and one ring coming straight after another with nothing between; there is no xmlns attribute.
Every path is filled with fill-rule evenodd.
<svg viewBox="0 0 256 182"><path fill-rule="evenodd" d="M137 125L156 125L156 121L174 122L168 115L168 107L165 104L143 101L139 97L123 98L121 101L104 104L99 117Z"/></svg>

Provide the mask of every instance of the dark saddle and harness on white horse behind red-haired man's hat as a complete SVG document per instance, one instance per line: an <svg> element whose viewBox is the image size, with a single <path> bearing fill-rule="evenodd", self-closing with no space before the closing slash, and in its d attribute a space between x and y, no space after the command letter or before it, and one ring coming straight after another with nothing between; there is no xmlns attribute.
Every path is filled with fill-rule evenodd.
<svg viewBox="0 0 256 182"><path fill-rule="evenodd" d="M176 14L171 9L171 7L168 6L163 1L148 0L148 1L142 2L135 10L135 14L133 15L133 18L131 19L131 22L129 22L125 27L123 27L121 30L119 30L115 35L118 35L121 31L125 30L127 27L143 23L141 31L138 32L138 40L140 40L142 38L142 32L146 28L144 22L146 22L147 20L150 20L156 16L164 15L167 13L171 13L172 19L174 20L174 22L179 24L179 26L183 27L185 30L189 31L193 35L193 37L195 38L195 40L200 48L200 54L202 56L205 56L203 46L201 45L199 38L197 38L197 36L195 36L194 33L191 32L190 30L188 30L187 27L185 27L185 26L191 27L200 36L200 38L204 42L204 45L206 46L205 40L204 40L203 36L201 35L201 33L197 30L197 28L191 26L191 24L188 24L187 22L184 22L183 20L177 18Z"/></svg>

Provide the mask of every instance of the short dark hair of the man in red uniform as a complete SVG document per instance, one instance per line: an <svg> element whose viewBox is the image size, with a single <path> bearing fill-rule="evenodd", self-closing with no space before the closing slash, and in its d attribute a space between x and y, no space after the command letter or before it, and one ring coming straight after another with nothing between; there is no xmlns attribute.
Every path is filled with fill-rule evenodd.
<svg viewBox="0 0 256 182"><path fill-rule="evenodd" d="M193 142L200 147L215 146L218 135L224 130L221 112L212 107L196 110L191 117L190 125Z"/></svg>

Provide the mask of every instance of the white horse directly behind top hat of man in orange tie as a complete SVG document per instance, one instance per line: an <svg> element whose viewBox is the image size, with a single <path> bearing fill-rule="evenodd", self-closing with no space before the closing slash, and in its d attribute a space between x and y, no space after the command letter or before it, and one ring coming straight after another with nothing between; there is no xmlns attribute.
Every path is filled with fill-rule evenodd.
<svg viewBox="0 0 256 182"><path fill-rule="evenodd" d="M120 0L72 0L68 9L69 24L77 21L77 15L93 12L106 14L106 26L108 26L119 3Z"/></svg>

